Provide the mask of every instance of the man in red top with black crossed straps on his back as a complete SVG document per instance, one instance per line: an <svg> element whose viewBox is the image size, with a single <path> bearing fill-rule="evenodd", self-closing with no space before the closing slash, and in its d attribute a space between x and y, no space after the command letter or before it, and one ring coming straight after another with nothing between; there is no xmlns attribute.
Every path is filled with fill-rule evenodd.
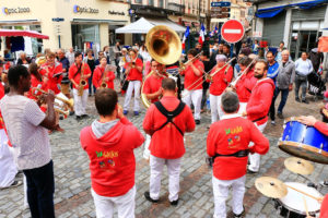
<svg viewBox="0 0 328 218"><path fill-rule="evenodd" d="M150 106L143 120L143 130L152 136L150 144L150 191L144 196L150 202L159 202L161 175L164 165L168 171L168 199L178 204L179 173L185 154L184 134L195 130L190 108L176 97L173 78L162 81L163 97Z"/></svg>

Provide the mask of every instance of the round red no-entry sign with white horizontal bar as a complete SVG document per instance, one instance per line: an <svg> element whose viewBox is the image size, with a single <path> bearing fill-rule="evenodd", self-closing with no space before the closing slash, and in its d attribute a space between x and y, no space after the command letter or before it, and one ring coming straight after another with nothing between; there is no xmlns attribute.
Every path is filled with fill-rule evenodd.
<svg viewBox="0 0 328 218"><path fill-rule="evenodd" d="M221 28L221 36L230 44L235 44L242 40L244 33L244 26L237 20L230 20L225 22Z"/></svg>

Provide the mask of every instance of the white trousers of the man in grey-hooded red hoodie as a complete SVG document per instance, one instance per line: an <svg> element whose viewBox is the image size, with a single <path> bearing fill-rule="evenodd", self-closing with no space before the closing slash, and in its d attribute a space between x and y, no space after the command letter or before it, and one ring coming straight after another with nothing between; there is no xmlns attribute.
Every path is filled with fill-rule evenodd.
<svg viewBox="0 0 328 218"><path fill-rule="evenodd" d="M115 206L117 207L119 218L134 218L136 185L125 195L117 197L101 196L92 189L91 194L93 196L97 218L112 218Z"/></svg>

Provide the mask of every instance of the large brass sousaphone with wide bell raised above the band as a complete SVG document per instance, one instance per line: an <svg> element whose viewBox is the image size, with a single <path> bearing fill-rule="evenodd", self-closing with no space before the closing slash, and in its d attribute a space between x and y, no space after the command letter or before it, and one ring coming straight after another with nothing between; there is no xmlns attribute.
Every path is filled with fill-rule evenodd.
<svg viewBox="0 0 328 218"><path fill-rule="evenodd" d="M183 47L180 38L172 28L159 25L152 27L145 36L145 46L149 55L159 63L164 65L173 64L181 56ZM150 72L144 81L151 76L154 72ZM144 84L143 81L143 84ZM143 84L141 87L141 100L145 108L149 108L151 102L143 94Z"/></svg>

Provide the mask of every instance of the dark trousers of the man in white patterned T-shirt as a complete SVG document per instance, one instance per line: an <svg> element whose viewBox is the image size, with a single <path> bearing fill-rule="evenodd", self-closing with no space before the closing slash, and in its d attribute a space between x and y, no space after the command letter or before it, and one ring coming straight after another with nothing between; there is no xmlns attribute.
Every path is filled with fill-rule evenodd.
<svg viewBox="0 0 328 218"><path fill-rule="evenodd" d="M27 182L27 202L33 218L55 218L54 208L54 164L23 170Z"/></svg>

